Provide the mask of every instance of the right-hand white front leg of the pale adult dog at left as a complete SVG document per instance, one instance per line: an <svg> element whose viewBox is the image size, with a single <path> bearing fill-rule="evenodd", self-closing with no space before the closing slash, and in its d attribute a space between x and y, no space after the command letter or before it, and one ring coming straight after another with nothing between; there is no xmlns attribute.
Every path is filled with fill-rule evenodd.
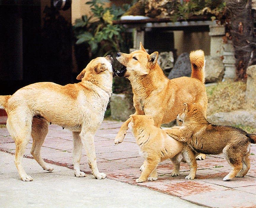
<svg viewBox="0 0 256 208"><path fill-rule="evenodd" d="M106 174L103 172L99 172L97 163L96 163L96 154L94 147L94 134L95 131L82 130L80 133L80 138L83 143L83 146L86 150L86 155L88 157L88 162L91 163L92 174L96 179L104 179L106 178Z"/></svg>

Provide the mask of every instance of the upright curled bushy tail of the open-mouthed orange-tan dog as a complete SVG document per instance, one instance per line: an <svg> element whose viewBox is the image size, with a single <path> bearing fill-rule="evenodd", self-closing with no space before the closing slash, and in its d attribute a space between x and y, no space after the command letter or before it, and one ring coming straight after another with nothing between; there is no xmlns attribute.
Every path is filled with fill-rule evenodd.
<svg viewBox="0 0 256 208"><path fill-rule="evenodd" d="M192 73L191 77L205 83L205 54L202 50L191 51L189 54Z"/></svg>

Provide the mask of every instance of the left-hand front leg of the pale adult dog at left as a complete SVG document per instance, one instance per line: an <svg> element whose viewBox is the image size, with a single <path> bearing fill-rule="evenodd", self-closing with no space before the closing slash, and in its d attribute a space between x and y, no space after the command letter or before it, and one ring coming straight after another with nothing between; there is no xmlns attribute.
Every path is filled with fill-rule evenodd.
<svg viewBox="0 0 256 208"><path fill-rule="evenodd" d="M79 136L79 132L73 132L73 165L74 165L74 174L76 177L85 177L85 173L80 171L80 159L82 154L83 143ZM88 156L87 156L88 157Z"/></svg>

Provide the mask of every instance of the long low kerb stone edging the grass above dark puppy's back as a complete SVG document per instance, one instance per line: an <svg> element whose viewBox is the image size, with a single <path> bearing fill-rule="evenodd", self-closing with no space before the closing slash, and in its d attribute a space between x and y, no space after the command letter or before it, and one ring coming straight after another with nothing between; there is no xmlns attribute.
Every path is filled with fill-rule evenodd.
<svg viewBox="0 0 256 208"><path fill-rule="evenodd" d="M215 125L243 125L256 128L256 112L237 110L233 112L218 112L208 116L207 120Z"/></svg>

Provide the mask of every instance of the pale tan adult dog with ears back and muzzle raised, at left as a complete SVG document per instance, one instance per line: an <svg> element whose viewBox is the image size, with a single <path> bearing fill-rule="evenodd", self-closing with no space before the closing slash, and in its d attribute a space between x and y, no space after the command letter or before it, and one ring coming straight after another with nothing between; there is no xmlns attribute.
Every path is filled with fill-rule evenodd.
<svg viewBox="0 0 256 208"><path fill-rule="evenodd" d="M77 84L61 86L41 82L25 86L12 96L0 96L0 107L8 114L7 128L15 141L15 165L22 180L33 180L21 164L30 136L33 138L31 154L34 159L44 170L53 170L40 154L49 122L73 132L76 177L85 176L79 167L84 145L95 178L106 178L97 168L94 134L103 121L112 93L112 62L111 56L93 59L77 76L81 80Z"/></svg>

